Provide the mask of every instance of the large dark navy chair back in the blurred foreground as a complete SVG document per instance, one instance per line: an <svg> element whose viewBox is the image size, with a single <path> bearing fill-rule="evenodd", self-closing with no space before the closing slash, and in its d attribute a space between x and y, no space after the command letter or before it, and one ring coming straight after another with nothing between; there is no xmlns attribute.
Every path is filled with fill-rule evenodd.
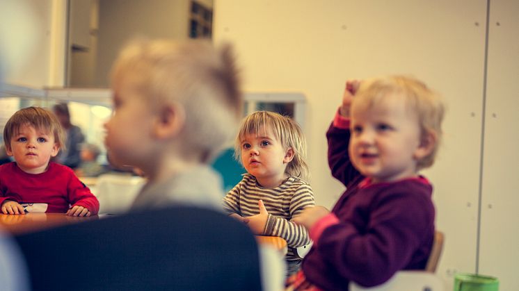
<svg viewBox="0 0 519 291"><path fill-rule="evenodd" d="M250 229L174 206L15 237L33 290L261 290Z"/></svg>

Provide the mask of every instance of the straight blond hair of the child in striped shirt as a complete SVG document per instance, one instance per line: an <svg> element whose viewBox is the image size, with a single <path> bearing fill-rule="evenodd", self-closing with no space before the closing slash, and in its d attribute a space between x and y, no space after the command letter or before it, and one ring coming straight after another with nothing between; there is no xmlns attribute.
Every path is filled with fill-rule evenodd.
<svg viewBox="0 0 519 291"><path fill-rule="evenodd" d="M294 158L288 163L285 173L307 180L310 176L306 158L306 140L301 127L292 118L271 111L256 111L241 121L238 135L234 141L234 157L241 160L241 141L246 135L258 134L263 128L271 128L285 151L292 149Z"/></svg>

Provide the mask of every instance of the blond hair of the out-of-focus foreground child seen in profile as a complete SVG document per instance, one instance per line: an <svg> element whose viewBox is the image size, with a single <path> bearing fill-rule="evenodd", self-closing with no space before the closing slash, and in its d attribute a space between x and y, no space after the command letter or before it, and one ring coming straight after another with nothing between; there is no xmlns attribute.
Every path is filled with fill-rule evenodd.
<svg viewBox="0 0 519 291"><path fill-rule="evenodd" d="M242 95L232 47L207 40L134 40L112 68L116 85L138 76L137 90L152 109L179 103L186 112L181 151L200 153L207 163L232 139L242 112Z"/></svg>

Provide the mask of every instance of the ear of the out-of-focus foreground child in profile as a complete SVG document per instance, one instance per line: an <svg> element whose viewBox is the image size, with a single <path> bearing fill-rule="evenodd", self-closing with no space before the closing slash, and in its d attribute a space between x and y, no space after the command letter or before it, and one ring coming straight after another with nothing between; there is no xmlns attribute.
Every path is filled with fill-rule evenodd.
<svg viewBox="0 0 519 291"><path fill-rule="evenodd" d="M159 109L153 125L154 136L159 140L178 135L186 122L186 112L180 103L168 103Z"/></svg>

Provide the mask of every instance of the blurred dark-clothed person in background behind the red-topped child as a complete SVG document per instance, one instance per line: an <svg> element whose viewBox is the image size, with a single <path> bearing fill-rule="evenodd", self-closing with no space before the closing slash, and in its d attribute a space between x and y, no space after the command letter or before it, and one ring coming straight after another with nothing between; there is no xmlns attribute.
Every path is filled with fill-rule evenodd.
<svg viewBox="0 0 519 291"><path fill-rule="evenodd" d="M85 141L85 136L79 126L70 122L70 111L67 103L57 103L52 107L52 110L58 117L66 135L65 149L61 149L58 153L56 162L75 169L81 164L81 144Z"/></svg>

